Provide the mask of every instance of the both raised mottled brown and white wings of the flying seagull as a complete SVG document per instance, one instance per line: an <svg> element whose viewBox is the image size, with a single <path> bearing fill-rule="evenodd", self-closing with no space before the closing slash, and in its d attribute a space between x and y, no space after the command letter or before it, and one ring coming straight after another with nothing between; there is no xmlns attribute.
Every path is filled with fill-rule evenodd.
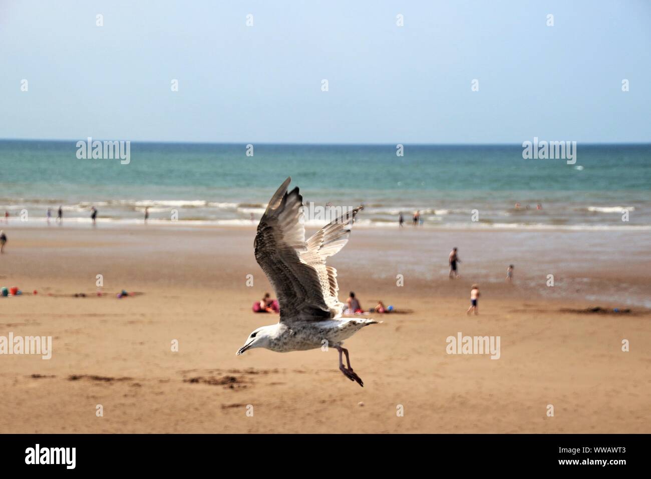
<svg viewBox="0 0 651 479"><path fill-rule="evenodd" d="M271 197L255 237L255 259L278 297L281 322L321 320L340 316L337 271L326 258L348 241L356 210L342 215L305 241L303 197L298 187L290 193L287 178Z"/></svg>

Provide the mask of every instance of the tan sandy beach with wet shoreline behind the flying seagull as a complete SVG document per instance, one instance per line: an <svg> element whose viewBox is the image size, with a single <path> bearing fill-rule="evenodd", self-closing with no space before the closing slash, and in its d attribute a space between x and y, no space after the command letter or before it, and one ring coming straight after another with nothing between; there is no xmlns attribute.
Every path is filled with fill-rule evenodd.
<svg viewBox="0 0 651 479"><path fill-rule="evenodd" d="M236 357L278 319L251 312L270 290L253 227L5 231L0 283L23 295L0 297L0 336L52 336L53 346L49 360L0 357L3 432L651 432L646 233L353 230L329 262L340 299L354 290L365 308L381 299L397 310L346 341L361 388L334 349ZM473 282L480 315L468 317ZM117 299L122 289L141 294ZM609 312L581 312L597 306ZM500 336L499 359L449 355L458 332Z"/></svg>

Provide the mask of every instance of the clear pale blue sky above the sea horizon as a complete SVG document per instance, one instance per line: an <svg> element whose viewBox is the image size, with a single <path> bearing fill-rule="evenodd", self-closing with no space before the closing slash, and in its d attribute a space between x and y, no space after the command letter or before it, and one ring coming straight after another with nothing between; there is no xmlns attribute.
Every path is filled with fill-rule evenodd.
<svg viewBox="0 0 651 479"><path fill-rule="evenodd" d="M0 108L0 138L648 142L651 2L0 0Z"/></svg>

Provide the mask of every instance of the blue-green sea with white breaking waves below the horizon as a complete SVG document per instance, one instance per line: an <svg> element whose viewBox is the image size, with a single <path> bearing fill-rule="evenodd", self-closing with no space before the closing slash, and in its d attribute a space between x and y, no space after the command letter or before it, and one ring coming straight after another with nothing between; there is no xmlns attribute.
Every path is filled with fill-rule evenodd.
<svg viewBox="0 0 651 479"><path fill-rule="evenodd" d="M0 140L0 213L42 225L61 206L83 224L94 206L121 225L148 207L161 225L251 225L291 176L306 213L363 204L357 225L369 228L419 212L422 228L651 230L651 144L579 143L568 164L524 159L521 144L134 141L123 164L79 158L77 141ZM323 223L316 213L307 223Z"/></svg>

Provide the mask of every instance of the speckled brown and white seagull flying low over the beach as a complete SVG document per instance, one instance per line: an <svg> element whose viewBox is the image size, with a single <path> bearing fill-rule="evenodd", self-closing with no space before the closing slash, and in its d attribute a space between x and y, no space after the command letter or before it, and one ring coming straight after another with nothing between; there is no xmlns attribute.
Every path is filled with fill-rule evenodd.
<svg viewBox="0 0 651 479"><path fill-rule="evenodd" d="M348 243L350 226L363 206L342 214L306 241L303 197L298 187L287 193L291 181L291 177L284 180L271 197L253 243L255 259L278 297L280 321L253 331L236 355L253 348L286 353L331 346L339 351L339 370L364 387L342 344L363 327L378 322L341 317L344 303L337 297L337 270L326 266L326 258Z"/></svg>

